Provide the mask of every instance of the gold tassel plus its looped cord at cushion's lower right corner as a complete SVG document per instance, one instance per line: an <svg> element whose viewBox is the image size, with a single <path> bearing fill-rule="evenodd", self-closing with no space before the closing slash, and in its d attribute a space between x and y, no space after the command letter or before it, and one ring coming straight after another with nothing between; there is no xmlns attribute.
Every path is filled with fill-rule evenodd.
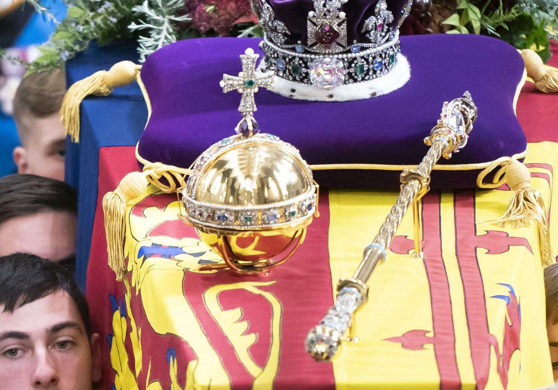
<svg viewBox="0 0 558 390"><path fill-rule="evenodd" d="M516 155L517 156L517 155ZM477 186L493 189L507 182L513 191L509 199L508 209L500 218L494 220L499 227L511 225L513 228L530 226L535 222L537 226L538 250L542 267L546 268L554 263L550 244L549 222L545 203L540 192L531 186L531 174L528 168L516 160L516 156L502 157L480 172ZM492 183L484 183L483 179L490 172L498 168Z"/></svg>

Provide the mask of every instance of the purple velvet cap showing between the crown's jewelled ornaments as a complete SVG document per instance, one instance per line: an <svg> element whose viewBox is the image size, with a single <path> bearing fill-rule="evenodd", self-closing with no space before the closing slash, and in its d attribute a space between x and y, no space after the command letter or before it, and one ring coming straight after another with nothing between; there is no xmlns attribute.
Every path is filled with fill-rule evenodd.
<svg viewBox="0 0 558 390"><path fill-rule="evenodd" d="M254 0L258 1L258 0ZM294 45L297 41L306 44L306 18L310 11L314 11L312 0L264 0L267 1L278 21L285 23L290 35L286 35L288 45ZM325 0L324 0L325 1ZM359 43L370 43L370 40L362 32L364 21L374 15L374 9L378 0L349 0L341 4L340 11L347 15L347 42L350 44L356 40ZM386 0L387 9L393 15L393 21L388 27L396 30L399 21L405 11L406 0Z"/></svg>

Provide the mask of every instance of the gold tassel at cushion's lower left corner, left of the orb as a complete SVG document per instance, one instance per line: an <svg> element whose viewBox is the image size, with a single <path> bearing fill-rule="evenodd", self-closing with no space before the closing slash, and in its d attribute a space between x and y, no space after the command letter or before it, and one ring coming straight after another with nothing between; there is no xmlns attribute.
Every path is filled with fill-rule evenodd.
<svg viewBox="0 0 558 390"><path fill-rule="evenodd" d="M126 234L126 207L147 189L147 179L142 172L124 176L114 192L103 197L105 233L107 234L108 265L116 273L116 280L126 277L124 263L124 234Z"/></svg>

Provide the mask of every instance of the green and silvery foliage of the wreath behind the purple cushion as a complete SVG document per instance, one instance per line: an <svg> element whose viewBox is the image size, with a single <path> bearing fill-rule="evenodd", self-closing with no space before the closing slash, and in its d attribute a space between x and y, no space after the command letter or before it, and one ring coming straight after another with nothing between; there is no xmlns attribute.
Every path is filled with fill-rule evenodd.
<svg viewBox="0 0 558 390"><path fill-rule="evenodd" d="M41 6L40 0L26 0L36 12L57 23L49 41L39 47L39 59L29 64L8 57L2 50L0 57L25 65L27 73L31 73L63 66L92 40L103 45L134 38L144 60L151 52L176 40L216 35L213 30L201 33L192 27L190 17L185 15L185 0L59 1L69 6L68 15L61 22ZM208 3L204 9L213 13L216 7ZM502 0L458 0L456 8L457 12L442 22L453 26L448 33L496 36L517 49L535 49L545 62L550 59L549 38L558 38L558 0L517 0L514 6L506 7ZM263 35L261 26L251 22L238 23L229 33L233 36Z"/></svg>

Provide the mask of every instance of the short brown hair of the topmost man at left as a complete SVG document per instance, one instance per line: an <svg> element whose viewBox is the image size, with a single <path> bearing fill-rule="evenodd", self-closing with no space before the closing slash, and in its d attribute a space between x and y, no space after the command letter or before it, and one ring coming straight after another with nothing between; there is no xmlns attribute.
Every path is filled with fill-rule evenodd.
<svg viewBox="0 0 558 390"><path fill-rule="evenodd" d="M65 93L64 69L34 72L23 78L13 98L13 119L22 143L26 143L33 131L28 119L45 118L58 113Z"/></svg>

